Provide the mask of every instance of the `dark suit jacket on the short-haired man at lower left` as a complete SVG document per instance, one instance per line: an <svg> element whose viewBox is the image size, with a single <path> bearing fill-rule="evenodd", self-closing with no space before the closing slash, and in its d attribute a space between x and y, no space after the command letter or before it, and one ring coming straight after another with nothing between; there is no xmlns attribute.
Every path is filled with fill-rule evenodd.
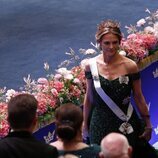
<svg viewBox="0 0 158 158"><path fill-rule="evenodd" d="M11 132L0 140L0 158L57 158L57 149L36 140L29 132Z"/></svg>

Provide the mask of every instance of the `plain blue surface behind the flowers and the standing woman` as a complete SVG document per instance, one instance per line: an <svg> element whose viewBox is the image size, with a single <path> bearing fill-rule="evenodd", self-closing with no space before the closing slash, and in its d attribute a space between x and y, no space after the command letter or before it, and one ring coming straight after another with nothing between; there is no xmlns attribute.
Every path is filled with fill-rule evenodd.
<svg viewBox="0 0 158 158"><path fill-rule="evenodd" d="M23 77L45 76L67 56L69 47L91 47L96 25L115 19L125 25L157 9L157 0L0 0L0 87L18 89Z"/></svg>

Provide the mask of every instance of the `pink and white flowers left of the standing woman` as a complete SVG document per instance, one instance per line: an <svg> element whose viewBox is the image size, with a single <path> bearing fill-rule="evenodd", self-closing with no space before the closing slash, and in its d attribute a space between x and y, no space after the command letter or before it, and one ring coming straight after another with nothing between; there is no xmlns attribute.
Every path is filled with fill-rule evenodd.
<svg viewBox="0 0 158 158"><path fill-rule="evenodd" d="M54 110L58 106L68 102L82 105L86 86L84 71L80 66L75 66L71 70L65 67L59 68L55 75L48 74L48 63L44 63L44 68L47 72L46 77L37 80L32 80L30 75L24 77L25 85L19 91L0 89L0 137L9 131L7 102L20 93L33 94L38 100L38 128L52 121Z"/></svg>

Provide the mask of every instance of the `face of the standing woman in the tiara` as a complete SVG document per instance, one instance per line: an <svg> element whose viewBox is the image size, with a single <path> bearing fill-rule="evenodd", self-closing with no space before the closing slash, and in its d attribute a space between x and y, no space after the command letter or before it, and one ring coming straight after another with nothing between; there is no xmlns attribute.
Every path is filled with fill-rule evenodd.
<svg viewBox="0 0 158 158"><path fill-rule="evenodd" d="M119 39L117 35L107 33L100 41L100 47L106 56L113 56L119 49Z"/></svg>

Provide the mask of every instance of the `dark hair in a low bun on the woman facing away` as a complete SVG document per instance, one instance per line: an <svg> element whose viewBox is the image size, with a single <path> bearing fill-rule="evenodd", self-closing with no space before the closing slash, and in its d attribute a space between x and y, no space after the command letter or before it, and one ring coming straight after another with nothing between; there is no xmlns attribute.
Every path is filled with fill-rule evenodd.
<svg viewBox="0 0 158 158"><path fill-rule="evenodd" d="M75 138L83 122L83 114L80 107L72 103L61 105L55 111L56 132L63 141Z"/></svg>

